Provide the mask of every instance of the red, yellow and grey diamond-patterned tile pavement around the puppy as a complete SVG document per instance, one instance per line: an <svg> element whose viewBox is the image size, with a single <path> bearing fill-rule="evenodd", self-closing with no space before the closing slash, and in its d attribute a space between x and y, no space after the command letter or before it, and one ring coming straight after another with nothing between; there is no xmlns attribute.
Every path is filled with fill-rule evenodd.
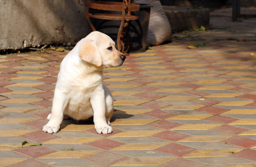
<svg viewBox="0 0 256 167"><path fill-rule="evenodd" d="M254 166L256 42L173 42L108 68L113 133L92 121L48 122L67 52L0 58L0 166ZM22 141L37 146L20 146ZM9 146L7 146L9 145Z"/></svg>

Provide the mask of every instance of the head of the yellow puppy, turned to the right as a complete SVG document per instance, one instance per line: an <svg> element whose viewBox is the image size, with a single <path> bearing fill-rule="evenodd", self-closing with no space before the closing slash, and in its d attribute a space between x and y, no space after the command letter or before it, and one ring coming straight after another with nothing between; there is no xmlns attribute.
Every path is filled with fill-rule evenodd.
<svg viewBox="0 0 256 167"><path fill-rule="evenodd" d="M118 67L125 55L116 50L115 42L104 33L91 32L79 48L79 57L96 67Z"/></svg>

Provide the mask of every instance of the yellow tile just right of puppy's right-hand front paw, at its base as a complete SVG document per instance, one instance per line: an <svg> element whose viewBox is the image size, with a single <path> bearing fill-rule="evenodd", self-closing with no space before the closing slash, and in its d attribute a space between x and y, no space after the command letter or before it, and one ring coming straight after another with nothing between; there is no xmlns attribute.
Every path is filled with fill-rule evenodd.
<svg viewBox="0 0 256 167"><path fill-rule="evenodd" d="M110 137L141 137L141 136L151 136L162 132L163 130L130 130L123 131L118 134L112 135Z"/></svg>

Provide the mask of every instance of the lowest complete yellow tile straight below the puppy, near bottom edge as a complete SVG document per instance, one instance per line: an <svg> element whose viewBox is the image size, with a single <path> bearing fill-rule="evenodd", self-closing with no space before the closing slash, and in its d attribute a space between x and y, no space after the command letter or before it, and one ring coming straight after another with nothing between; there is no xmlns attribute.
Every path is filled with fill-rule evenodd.
<svg viewBox="0 0 256 167"><path fill-rule="evenodd" d="M63 148L64 149L64 148ZM83 158L92 154L99 153L99 150L73 150L73 151L58 151L48 155L41 156L41 158Z"/></svg>

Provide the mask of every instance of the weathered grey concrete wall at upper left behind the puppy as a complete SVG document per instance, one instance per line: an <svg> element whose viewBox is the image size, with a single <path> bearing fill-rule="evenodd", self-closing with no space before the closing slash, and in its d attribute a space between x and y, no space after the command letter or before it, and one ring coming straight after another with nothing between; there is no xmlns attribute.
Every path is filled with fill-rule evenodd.
<svg viewBox="0 0 256 167"><path fill-rule="evenodd" d="M73 45L91 32L85 9L78 0L0 0L0 50Z"/></svg>

